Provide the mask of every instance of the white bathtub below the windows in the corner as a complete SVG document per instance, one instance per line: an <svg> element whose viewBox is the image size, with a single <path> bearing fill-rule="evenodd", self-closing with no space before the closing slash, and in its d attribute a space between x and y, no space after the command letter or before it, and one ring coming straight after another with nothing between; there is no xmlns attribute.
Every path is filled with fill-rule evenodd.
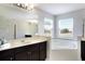
<svg viewBox="0 0 85 64"><path fill-rule="evenodd" d="M77 40L55 38L51 41L51 49L77 49Z"/></svg>

